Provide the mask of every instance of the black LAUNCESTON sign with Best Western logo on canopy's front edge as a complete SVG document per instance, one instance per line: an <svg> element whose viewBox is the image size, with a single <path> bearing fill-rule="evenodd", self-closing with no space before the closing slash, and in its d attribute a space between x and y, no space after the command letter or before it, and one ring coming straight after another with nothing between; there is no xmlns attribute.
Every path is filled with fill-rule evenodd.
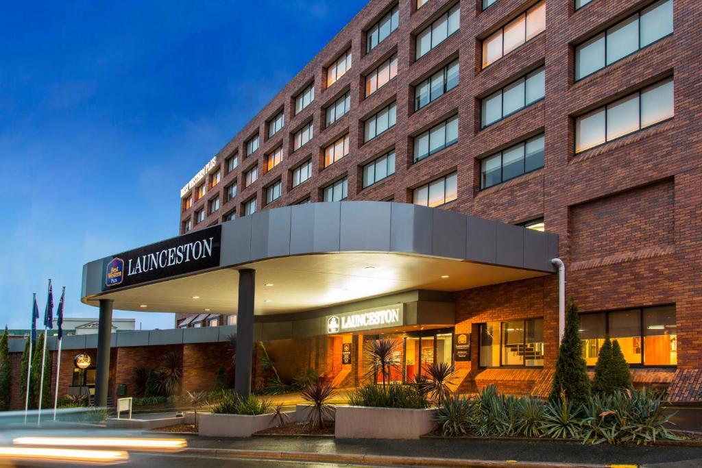
<svg viewBox="0 0 702 468"><path fill-rule="evenodd" d="M221 242L217 225L112 255L103 261L102 290L218 267Z"/></svg>

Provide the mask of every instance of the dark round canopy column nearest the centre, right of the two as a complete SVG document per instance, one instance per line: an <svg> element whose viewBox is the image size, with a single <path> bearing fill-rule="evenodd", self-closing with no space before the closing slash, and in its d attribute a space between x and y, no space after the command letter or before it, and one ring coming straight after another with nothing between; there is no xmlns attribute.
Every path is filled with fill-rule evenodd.
<svg viewBox="0 0 702 468"><path fill-rule="evenodd" d="M253 359L253 299L256 294L256 270L239 270L239 309L237 309L237 356L234 389L247 398L251 394Z"/></svg>

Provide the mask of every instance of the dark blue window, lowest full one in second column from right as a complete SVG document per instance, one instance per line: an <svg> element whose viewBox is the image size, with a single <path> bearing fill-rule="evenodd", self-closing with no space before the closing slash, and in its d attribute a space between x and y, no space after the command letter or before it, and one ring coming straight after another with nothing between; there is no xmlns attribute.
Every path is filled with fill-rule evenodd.
<svg viewBox="0 0 702 468"><path fill-rule="evenodd" d="M480 161L480 189L543 168L543 146L543 135L538 135Z"/></svg>

